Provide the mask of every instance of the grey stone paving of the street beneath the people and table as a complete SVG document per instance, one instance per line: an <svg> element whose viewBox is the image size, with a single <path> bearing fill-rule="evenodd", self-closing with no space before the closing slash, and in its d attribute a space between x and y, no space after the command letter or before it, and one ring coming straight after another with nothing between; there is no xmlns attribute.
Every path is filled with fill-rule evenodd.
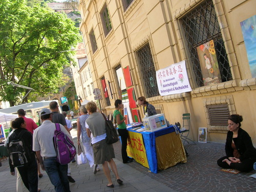
<svg viewBox="0 0 256 192"><path fill-rule="evenodd" d="M72 130L74 143L76 144L76 129ZM159 170L158 174L151 173L148 168L137 162L123 164L121 160L121 144L114 144L115 162L123 185L118 185L114 174L111 172L114 188L106 187L106 180L102 166L96 175L89 164L77 165L71 163L72 177L75 183L70 183L72 192L78 191L256 191L256 179L249 177L250 173L237 175L222 172L217 165L217 159L224 156L224 144L222 143L196 143L187 144L185 148L189 154L187 163L177 164L165 170ZM0 191L16 191L16 176L10 175L8 160L3 161L0 167ZM46 172L39 178L38 187L42 192L55 191ZM28 191L24 187L24 191Z"/></svg>

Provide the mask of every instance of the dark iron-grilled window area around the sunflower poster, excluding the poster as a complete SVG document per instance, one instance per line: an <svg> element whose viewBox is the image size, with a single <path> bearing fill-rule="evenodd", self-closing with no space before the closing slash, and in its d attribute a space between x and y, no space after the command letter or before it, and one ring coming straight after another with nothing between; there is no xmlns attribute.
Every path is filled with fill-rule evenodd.
<svg viewBox="0 0 256 192"><path fill-rule="evenodd" d="M232 79L224 41L221 35L220 26L211 0L207 0L196 9L186 14L182 19L185 38L187 40L188 51L191 63L199 87L204 86L204 79L197 54L197 48L210 40L214 41L218 68L220 70L221 81ZM215 54L215 53L214 53Z"/></svg>

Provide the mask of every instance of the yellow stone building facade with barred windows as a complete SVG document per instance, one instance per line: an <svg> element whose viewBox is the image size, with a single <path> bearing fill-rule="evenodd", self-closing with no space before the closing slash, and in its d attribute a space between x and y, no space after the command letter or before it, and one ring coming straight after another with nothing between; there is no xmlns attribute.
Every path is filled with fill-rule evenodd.
<svg viewBox="0 0 256 192"><path fill-rule="evenodd" d="M240 114L256 144L256 78L241 28L255 7L254 0L80 0L80 30L104 113L115 110L117 71L129 66L125 89L133 88L135 100L145 96L171 124L190 113L190 139L207 127L207 141L225 142L227 116ZM160 96L156 71L183 60L192 91ZM142 119L142 108L134 109Z"/></svg>

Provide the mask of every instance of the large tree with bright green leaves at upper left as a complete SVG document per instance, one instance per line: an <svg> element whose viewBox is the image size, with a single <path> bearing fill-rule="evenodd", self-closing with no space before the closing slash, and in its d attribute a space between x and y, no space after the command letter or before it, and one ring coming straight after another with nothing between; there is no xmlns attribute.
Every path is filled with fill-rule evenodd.
<svg viewBox="0 0 256 192"><path fill-rule="evenodd" d="M11 81L38 97L56 93L71 58L68 50L79 39L74 22L25 0L0 0L0 13L0 99L11 106L29 100L29 90Z"/></svg>

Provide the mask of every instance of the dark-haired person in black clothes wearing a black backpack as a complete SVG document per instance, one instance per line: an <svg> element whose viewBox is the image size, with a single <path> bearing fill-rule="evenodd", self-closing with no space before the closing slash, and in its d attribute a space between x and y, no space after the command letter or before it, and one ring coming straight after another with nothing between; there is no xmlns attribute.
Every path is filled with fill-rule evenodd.
<svg viewBox="0 0 256 192"><path fill-rule="evenodd" d="M26 122L22 117L16 118L12 121L12 127L16 129L12 135L9 137L8 149L10 147L10 142L15 140L15 137L19 135L19 133L24 132L20 137L20 140L23 141L24 146L26 147L25 152L29 155L28 163L24 166L17 167L20 176L22 177L22 181L24 185L30 192L37 192L38 188L38 176L37 176L37 162L35 160L35 154L32 151L33 145L33 136L32 134L26 130ZM14 167L11 162L11 158L9 157L9 164L11 169L11 175L15 175Z"/></svg>

